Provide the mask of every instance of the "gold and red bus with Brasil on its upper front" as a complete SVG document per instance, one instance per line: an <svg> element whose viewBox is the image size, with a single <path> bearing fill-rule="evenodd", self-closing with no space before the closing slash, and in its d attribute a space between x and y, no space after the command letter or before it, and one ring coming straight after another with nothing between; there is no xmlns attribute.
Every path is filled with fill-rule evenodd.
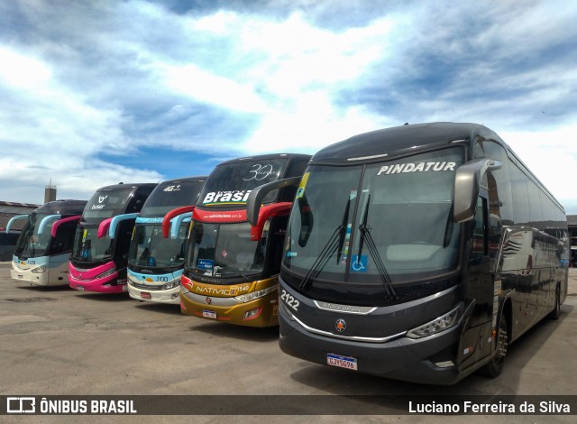
<svg viewBox="0 0 577 424"><path fill-rule="evenodd" d="M211 172L192 211L180 288L183 314L245 327L278 325L280 255L296 187L310 156L268 154L226 161ZM260 198L251 231L246 201L252 189L274 183ZM165 218L165 235L174 231Z"/></svg>

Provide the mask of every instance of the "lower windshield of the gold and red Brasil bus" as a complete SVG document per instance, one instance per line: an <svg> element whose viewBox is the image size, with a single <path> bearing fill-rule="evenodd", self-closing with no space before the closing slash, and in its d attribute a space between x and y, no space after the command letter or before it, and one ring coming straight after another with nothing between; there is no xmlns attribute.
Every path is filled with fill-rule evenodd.
<svg viewBox="0 0 577 424"><path fill-rule="evenodd" d="M251 241L251 226L195 222L190 230L187 264L199 276L238 277L261 273L264 267L264 238Z"/></svg>

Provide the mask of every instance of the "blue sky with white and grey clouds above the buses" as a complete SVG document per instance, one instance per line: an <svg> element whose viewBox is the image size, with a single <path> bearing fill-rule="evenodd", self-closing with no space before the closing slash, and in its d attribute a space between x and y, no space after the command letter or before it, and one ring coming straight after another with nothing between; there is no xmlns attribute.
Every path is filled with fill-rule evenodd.
<svg viewBox="0 0 577 424"><path fill-rule="evenodd" d="M454 121L577 214L575 22L563 0L0 1L0 200Z"/></svg>

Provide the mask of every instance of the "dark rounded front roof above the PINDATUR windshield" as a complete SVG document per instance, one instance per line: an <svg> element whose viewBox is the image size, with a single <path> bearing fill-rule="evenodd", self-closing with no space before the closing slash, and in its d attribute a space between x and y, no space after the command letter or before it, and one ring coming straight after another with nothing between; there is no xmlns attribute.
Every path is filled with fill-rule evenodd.
<svg viewBox="0 0 577 424"><path fill-rule="evenodd" d="M395 155L408 149L455 141L474 140L477 135L506 145L499 135L480 124L438 122L404 124L370 133L354 135L342 142L331 144L316 152L312 162L336 161L355 163L355 160L372 159L372 156Z"/></svg>

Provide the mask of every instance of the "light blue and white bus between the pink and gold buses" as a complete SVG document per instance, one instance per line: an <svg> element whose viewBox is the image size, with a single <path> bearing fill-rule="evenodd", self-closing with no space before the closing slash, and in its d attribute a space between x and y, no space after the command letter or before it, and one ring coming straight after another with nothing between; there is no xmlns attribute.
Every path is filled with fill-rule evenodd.
<svg viewBox="0 0 577 424"><path fill-rule="evenodd" d="M180 304L190 213L181 215L173 237L162 236L163 217L175 208L192 210L205 177L162 181L146 199L128 253L128 293L134 300Z"/></svg>

